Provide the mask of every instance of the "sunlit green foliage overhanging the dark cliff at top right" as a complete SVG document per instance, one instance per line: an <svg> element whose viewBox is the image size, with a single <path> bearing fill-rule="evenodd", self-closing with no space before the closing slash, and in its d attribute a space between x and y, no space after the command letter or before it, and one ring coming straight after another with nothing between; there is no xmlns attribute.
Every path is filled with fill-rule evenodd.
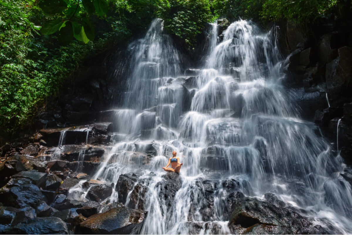
<svg viewBox="0 0 352 235"><path fill-rule="evenodd" d="M329 13L337 0L266 0L261 15L266 20L286 18L296 24L306 24Z"/></svg>

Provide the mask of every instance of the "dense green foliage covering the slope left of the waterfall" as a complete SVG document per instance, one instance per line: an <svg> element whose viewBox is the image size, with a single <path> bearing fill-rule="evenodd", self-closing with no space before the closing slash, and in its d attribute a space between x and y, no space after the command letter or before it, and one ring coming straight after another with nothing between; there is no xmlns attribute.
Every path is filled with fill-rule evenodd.
<svg viewBox="0 0 352 235"><path fill-rule="evenodd" d="M77 7L76 1L67 2ZM55 97L86 58L131 36L126 15L136 17L130 12L133 5L106 1L109 10L103 18L106 5L101 3L100 10L88 18L82 11L92 7L87 2L93 4L82 1L76 14L60 0L41 7L35 0L0 0L0 136L30 124L38 107ZM68 20L73 15L79 19ZM79 41L72 41L73 37Z"/></svg>

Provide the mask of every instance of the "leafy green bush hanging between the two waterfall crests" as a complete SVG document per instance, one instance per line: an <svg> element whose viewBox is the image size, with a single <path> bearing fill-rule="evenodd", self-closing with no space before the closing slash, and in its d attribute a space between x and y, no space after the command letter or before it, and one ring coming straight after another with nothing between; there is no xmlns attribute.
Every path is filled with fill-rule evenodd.
<svg viewBox="0 0 352 235"><path fill-rule="evenodd" d="M191 49L196 36L212 19L208 0L161 0L157 16L164 19L165 28L182 38Z"/></svg>

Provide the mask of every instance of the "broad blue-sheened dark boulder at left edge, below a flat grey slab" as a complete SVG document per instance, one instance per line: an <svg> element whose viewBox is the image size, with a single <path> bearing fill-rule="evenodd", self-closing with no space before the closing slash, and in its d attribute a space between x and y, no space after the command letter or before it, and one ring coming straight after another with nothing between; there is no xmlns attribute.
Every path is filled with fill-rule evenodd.
<svg viewBox="0 0 352 235"><path fill-rule="evenodd" d="M11 188L2 187L0 189L0 201L6 206L20 208L29 205L36 208L43 200L42 192L34 184L16 185Z"/></svg>

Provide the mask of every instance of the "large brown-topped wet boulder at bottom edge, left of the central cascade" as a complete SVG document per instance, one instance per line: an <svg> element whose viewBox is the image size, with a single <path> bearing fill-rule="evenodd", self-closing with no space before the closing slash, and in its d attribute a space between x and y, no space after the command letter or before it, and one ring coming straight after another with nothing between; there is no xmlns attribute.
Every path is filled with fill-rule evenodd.
<svg viewBox="0 0 352 235"><path fill-rule="evenodd" d="M75 234L139 234L146 213L126 207L113 208L77 224Z"/></svg>

